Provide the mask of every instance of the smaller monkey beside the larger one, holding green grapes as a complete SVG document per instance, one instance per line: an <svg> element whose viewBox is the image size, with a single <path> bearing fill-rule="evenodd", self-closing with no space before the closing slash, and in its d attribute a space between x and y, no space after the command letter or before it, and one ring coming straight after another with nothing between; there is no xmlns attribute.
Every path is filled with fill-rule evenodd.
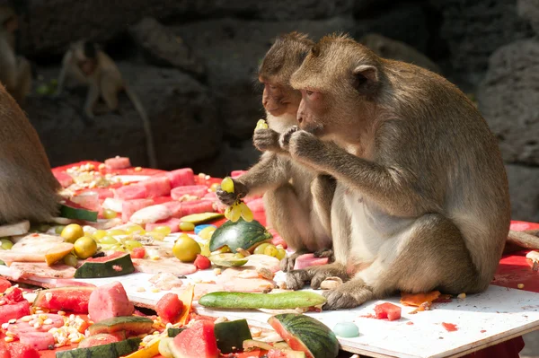
<svg viewBox="0 0 539 358"><path fill-rule="evenodd" d="M305 252L331 257L330 207L332 195L321 193L334 188L335 181L309 167L290 160L289 155L266 152L266 146L279 134L297 124L296 112L301 93L290 87L290 75L301 65L314 42L305 34L291 32L280 36L264 57L259 80L264 85L262 105L269 129L258 129L255 146L265 152L261 161L247 173L234 179L234 193L217 191L225 205L237 197L264 193L268 222L296 253L281 261L284 271L292 269L296 258ZM323 198L323 200L319 200Z"/></svg>

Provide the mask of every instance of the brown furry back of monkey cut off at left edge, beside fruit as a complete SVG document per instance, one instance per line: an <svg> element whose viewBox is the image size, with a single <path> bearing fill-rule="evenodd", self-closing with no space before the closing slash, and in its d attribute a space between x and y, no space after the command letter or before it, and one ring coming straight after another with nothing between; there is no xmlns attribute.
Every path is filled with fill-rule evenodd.
<svg viewBox="0 0 539 358"><path fill-rule="evenodd" d="M0 84L0 224L57 216L60 184L52 175L40 137Z"/></svg>

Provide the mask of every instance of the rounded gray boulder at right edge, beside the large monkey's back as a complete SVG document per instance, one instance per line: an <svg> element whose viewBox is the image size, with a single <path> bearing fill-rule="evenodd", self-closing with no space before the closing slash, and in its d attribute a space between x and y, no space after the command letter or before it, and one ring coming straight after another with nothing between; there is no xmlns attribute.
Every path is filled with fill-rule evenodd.
<svg viewBox="0 0 539 358"><path fill-rule="evenodd" d="M539 42L519 40L490 57L477 99L505 162L539 164Z"/></svg>

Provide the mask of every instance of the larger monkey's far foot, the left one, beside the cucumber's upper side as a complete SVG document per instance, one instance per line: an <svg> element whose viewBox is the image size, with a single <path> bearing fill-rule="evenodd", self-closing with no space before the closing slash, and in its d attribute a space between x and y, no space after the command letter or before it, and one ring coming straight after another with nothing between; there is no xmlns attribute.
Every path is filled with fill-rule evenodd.
<svg viewBox="0 0 539 358"><path fill-rule="evenodd" d="M317 289L323 280L334 276L340 277L342 281L349 279L345 266L337 262L323 266L307 267L303 270L292 270L287 273L287 289L299 290L309 282L312 288Z"/></svg>

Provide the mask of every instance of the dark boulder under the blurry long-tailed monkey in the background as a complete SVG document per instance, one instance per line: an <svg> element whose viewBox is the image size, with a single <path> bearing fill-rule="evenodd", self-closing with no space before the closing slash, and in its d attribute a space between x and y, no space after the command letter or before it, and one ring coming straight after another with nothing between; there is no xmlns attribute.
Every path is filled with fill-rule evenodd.
<svg viewBox="0 0 539 358"><path fill-rule="evenodd" d="M208 89L181 71L119 63L119 69L146 108L152 122L160 169L176 169L216 155L221 128ZM46 78L57 75L43 71ZM99 114L89 124L82 116L86 91L73 87L59 100L33 95L24 107L45 146L51 165L114 155L147 165L142 120L126 95L119 114ZM103 106L104 107L104 106Z"/></svg>

